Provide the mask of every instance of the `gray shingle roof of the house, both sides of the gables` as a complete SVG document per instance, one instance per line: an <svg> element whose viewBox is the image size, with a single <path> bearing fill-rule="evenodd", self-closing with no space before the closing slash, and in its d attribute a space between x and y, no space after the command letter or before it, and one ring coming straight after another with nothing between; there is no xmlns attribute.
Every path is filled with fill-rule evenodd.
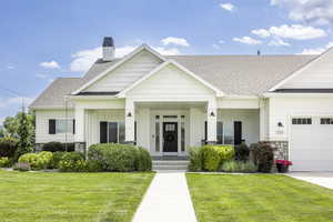
<svg viewBox="0 0 333 222"><path fill-rule="evenodd" d="M219 88L225 94L261 95L316 56L170 56L167 57ZM63 97L118 62L98 60L83 78L60 78L30 105L61 107ZM112 89L110 89L112 91Z"/></svg>

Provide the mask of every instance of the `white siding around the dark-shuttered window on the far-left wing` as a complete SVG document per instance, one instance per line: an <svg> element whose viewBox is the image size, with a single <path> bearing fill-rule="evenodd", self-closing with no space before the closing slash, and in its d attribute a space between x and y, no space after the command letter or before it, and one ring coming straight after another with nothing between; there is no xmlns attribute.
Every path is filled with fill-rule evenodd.
<svg viewBox="0 0 333 222"><path fill-rule="evenodd" d="M72 110L68 111L65 115L64 110L36 110L36 143L47 143L51 141L65 142L65 133L49 134L49 120L50 119L74 119ZM67 141L74 142L74 134L67 133Z"/></svg>

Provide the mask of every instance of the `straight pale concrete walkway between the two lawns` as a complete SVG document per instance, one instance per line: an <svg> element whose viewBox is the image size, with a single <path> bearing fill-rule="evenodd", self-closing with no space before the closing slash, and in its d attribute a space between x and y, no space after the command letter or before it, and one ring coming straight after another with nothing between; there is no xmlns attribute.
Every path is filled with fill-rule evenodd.
<svg viewBox="0 0 333 222"><path fill-rule="evenodd" d="M158 172L133 222L196 222L185 174Z"/></svg>

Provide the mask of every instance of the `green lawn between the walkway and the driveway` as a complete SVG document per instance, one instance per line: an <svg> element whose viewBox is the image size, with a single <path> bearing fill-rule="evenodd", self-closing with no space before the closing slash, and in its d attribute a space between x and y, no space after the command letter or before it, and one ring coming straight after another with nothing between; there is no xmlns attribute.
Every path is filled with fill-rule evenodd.
<svg viewBox="0 0 333 222"><path fill-rule="evenodd" d="M200 222L329 222L333 191L284 175L186 174Z"/></svg>

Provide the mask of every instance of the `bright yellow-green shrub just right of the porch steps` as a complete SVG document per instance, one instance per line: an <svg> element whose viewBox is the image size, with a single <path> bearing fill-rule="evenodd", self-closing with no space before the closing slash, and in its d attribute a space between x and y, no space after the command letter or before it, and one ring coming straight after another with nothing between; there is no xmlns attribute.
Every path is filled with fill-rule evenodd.
<svg viewBox="0 0 333 222"><path fill-rule="evenodd" d="M234 149L230 145L204 145L202 154L204 170L218 171L221 164L233 159Z"/></svg>

